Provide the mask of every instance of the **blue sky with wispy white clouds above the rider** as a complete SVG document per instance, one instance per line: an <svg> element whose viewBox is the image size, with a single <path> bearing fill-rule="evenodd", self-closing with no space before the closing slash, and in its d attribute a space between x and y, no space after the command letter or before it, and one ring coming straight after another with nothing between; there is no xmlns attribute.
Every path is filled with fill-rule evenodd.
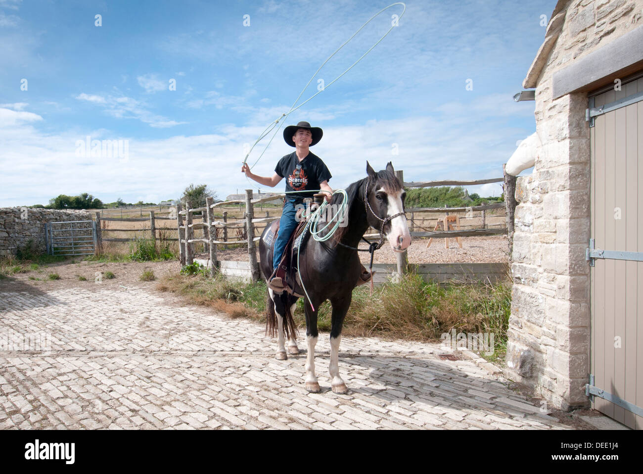
<svg viewBox="0 0 643 474"><path fill-rule="evenodd" d="M311 150L333 188L366 176L367 160L375 169L392 161L405 181L502 176L516 143L535 131L534 102L512 95L544 39L541 15L548 20L555 4L409 1L399 26L285 125L323 128ZM190 183L219 197L266 190L240 172L245 150L387 5L0 0L0 206L81 192L158 202ZM348 68L402 11L377 16L302 98ZM92 141L108 140L120 140L120 155L91 153ZM272 176L293 150L278 132L253 172ZM496 184L469 190L501 192Z"/></svg>

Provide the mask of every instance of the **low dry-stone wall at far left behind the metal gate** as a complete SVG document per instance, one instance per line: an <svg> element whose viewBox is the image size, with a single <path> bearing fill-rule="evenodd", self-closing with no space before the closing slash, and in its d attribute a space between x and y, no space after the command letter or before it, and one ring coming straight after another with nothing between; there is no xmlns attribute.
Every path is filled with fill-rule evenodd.
<svg viewBox="0 0 643 474"><path fill-rule="evenodd" d="M44 223L60 221L91 221L91 214L79 210L0 208L0 257L15 255L30 241L35 251L45 253Z"/></svg>

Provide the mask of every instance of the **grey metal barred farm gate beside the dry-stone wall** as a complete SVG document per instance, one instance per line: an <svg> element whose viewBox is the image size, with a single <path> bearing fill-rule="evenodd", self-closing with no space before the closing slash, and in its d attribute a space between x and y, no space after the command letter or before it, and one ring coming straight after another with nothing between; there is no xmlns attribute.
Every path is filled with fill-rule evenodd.
<svg viewBox="0 0 643 474"><path fill-rule="evenodd" d="M50 255L94 255L95 221L45 223L44 232L47 253Z"/></svg>

